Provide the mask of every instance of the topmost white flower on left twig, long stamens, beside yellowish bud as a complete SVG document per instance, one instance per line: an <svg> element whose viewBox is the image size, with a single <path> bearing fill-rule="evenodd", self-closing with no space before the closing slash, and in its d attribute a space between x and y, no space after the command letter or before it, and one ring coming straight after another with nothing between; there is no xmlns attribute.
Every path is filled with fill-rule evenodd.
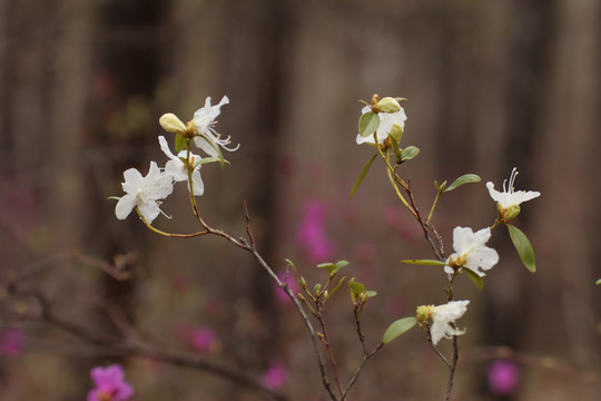
<svg viewBox="0 0 601 401"><path fill-rule="evenodd" d="M204 135L205 137L197 136L194 138L194 143L196 146L198 146L200 149L205 150L208 155L213 157L217 157L217 150L215 150L214 146L220 146L226 150L234 151L238 148L228 148L227 145L230 144L229 137L221 139L220 134L217 134L215 128L215 118L219 116L221 113L221 106L229 104L229 99L227 96L224 96L221 101L219 101L218 105L210 106L210 97L207 97L205 101L205 107L199 108L194 114L194 119L191 120L193 127L196 129L198 134ZM213 144L209 144L210 143Z"/></svg>

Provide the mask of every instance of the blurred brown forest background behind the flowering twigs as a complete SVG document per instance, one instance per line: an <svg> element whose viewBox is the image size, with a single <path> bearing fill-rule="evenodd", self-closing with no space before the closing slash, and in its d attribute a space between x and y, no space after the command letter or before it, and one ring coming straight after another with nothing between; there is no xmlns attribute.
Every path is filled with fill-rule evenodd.
<svg viewBox="0 0 601 401"><path fill-rule="evenodd" d="M453 399L601 399L600 50L598 0L1 0L0 283L21 281L0 294L2 341L18 338L0 355L0 398L82 400L90 368L121 363L135 400L265 399L210 370L90 344L49 324L41 299L51 316L95 335L122 336L125 326L254 378L277 363L288 400L324 399L302 321L247 253L216 237L158 236L134 215L118 221L107 200L121 196L125 169L146 175L149 160L166 162L158 117L191 119L207 96L229 97L218 131L240 144L225 155L230 166L203 168L198 203L210 224L243 235L246 199L279 271L288 257L313 282L315 263L348 260L345 274L378 292L364 316L368 344L416 305L444 303L437 267L398 263L433 255L382 166L348 200L372 155L355 144L357 99L377 92L408 99L402 146L422 154L402 175L422 209L434 179L483 178L441 199L434 223L447 250L454 226L494 221L485 182L499 188L516 166L516 189L542 193L515 223L538 273L503 228L484 291L457 283L472 303ZM164 204L175 217L159 216L159 228L197 228L186 195ZM312 213L327 234L321 255L298 234ZM101 261L131 277L115 280ZM361 352L347 295L331 306L348 376ZM198 327L214 333L210 346L194 343ZM519 373L508 391L487 378L501 356ZM440 400L445 378L413 330L370 361L348 400Z"/></svg>

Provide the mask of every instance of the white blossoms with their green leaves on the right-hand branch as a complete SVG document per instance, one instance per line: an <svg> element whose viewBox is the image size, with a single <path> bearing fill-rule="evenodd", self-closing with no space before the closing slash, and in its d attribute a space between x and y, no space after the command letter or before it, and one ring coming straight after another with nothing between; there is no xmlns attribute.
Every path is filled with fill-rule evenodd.
<svg viewBox="0 0 601 401"><path fill-rule="evenodd" d="M415 147L407 147L402 149L398 147L398 139L403 135L405 128L405 120L407 119L405 110L398 104L398 100L404 100L403 98L393 98L385 97L380 99L378 95L372 97L372 102L368 105L365 102L365 107L361 110L362 116L359 117L358 124L358 135L356 137L356 143L361 144L372 144L380 145L378 154L384 158L388 167L388 176L395 190L400 196L403 204L410 208L414 215L416 212L410 206L410 204L401 195L397 184L402 186L407 193L411 190L408 184L404 183L396 175L396 168L404 162L415 157L418 153L418 149ZM392 167L390 162L390 149L394 150L395 154L395 167ZM377 157L372 157L367 163L366 167L362 172L362 175L355 184L355 188L361 185L363 177L365 176L367 169L371 166L372 160ZM494 189L493 183L486 183L486 187L493 200L496 202L497 218L491 227L482 228L474 233L470 227L457 226L453 229L453 250L452 253L446 260L443 258L442 246L440 252L436 252L439 261L431 260L407 260L406 263L412 264L430 264L430 265L442 265L444 266L444 272L447 274L447 283L450 295L449 299L452 300L452 283L456 275L465 273L474 281L474 283L482 287L482 277L485 276L486 272L490 271L494 265L499 263L499 254L495 250L487 247L486 243L491 238L491 229L494 228L500 223L508 225L510 229L510 235L512 241L520 253L520 257L529 267L529 270L534 271L534 256L531 248L530 242L518 228L510 226L508 222L511 218L514 218L520 213L520 204L530 199L533 199L540 196L539 192L524 192L515 190L513 184L515 182L515 176L518 175L516 168L513 168L509 186L506 186L506 180L503 183L503 192L497 192ZM396 177L396 182L393 177ZM474 174L469 174L457 178L453 184L446 186L446 182L439 185L435 182L435 187L437 189L437 197L433 203L432 211L427 221L432 216L432 212L436 205L439 196L443 193L453 190L460 185L466 183L480 182L480 177ZM353 193L352 193L353 194ZM410 194L411 196L411 194ZM423 224L423 229L426 233L431 229L427 224ZM437 234L436 234L437 235ZM436 251L436 250L435 250ZM470 301L449 301L446 304L434 306L434 305L422 305L417 307L416 316L408 316L401 319L387 329L384 334L384 342L392 341L394 338L411 329L416 323L420 323L420 326L425 329L432 343L435 345L443 338L450 339L455 335L461 335L464 331L456 329L454 321L465 313L467 310L467 304ZM426 322L432 321L431 325L425 324Z"/></svg>

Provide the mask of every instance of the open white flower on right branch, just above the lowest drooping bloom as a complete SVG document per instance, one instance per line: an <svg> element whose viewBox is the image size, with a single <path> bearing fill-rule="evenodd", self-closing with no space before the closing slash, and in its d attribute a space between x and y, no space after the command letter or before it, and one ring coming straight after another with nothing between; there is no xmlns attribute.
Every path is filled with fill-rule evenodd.
<svg viewBox="0 0 601 401"><path fill-rule="evenodd" d="M455 227L453 229L453 248L455 253L446 260L445 273L453 274L455 268L466 267L483 277L485 275L484 271L499 263L496 251L484 245L490 237L490 227L482 228L476 233L469 227Z"/></svg>

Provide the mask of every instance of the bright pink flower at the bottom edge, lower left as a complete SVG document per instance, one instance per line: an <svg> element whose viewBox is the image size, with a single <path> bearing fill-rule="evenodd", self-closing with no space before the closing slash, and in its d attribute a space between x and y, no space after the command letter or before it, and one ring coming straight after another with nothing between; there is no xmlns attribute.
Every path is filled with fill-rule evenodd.
<svg viewBox="0 0 601 401"><path fill-rule="evenodd" d="M125 382L121 365L96 366L90 371L96 389L88 393L88 401L127 401L134 389Z"/></svg>

